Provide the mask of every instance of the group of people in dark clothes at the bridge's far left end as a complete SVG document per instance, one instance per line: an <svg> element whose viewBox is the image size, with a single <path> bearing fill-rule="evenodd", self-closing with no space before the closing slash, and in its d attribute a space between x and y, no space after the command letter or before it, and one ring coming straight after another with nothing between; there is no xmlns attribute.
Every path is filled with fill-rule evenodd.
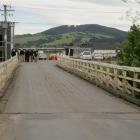
<svg viewBox="0 0 140 140"><path fill-rule="evenodd" d="M38 61L38 50L37 49L13 49L11 52L12 57L18 56L21 62L37 62Z"/></svg>

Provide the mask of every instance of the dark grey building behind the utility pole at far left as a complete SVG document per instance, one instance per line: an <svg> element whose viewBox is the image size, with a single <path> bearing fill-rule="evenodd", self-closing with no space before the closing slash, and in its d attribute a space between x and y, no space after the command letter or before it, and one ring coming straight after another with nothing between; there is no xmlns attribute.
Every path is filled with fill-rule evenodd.
<svg viewBox="0 0 140 140"><path fill-rule="evenodd" d="M11 58L14 47L14 23L0 22L0 61Z"/></svg>

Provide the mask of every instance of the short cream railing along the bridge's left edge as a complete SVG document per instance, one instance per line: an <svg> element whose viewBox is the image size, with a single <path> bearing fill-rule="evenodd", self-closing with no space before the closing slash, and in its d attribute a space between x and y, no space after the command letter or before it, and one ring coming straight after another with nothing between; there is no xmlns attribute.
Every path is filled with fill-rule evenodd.
<svg viewBox="0 0 140 140"><path fill-rule="evenodd" d="M5 62L0 63L0 97L3 96L3 90L9 82L9 79L11 78L17 64L17 57L13 57Z"/></svg>

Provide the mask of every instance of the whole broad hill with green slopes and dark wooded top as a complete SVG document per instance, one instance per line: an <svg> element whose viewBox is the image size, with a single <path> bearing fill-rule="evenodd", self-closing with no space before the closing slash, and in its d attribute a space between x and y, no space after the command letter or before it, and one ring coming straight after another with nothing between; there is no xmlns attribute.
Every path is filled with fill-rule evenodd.
<svg viewBox="0 0 140 140"><path fill-rule="evenodd" d="M59 26L37 34L17 35L17 47L115 47L122 44L126 32L101 25Z"/></svg>

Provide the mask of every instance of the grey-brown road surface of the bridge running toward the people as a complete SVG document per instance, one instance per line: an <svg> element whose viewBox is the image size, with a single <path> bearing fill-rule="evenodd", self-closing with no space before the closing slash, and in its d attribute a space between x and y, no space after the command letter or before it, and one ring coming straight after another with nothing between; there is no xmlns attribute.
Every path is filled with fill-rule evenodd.
<svg viewBox="0 0 140 140"><path fill-rule="evenodd" d="M55 66L22 63L0 140L139 140L139 108Z"/></svg>

